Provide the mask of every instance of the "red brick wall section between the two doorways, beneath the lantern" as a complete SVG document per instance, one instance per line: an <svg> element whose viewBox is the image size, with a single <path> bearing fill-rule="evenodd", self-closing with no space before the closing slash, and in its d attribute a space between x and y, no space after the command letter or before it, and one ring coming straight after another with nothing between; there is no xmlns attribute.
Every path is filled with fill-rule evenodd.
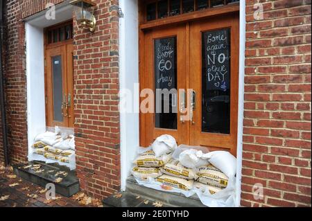
<svg viewBox="0 0 312 221"><path fill-rule="evenodd" d="M98 0L96 30L74 26L76 163L80 187L105 197L120 190L118 1Z"/></svg>

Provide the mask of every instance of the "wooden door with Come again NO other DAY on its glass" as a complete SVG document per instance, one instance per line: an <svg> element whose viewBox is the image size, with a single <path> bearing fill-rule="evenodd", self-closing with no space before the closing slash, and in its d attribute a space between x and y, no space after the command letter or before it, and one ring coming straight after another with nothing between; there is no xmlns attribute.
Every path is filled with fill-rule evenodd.
<svg viewBox="0 0 312 221"><path fill-rule="evenodd" d="M236 155L239 97L239 16L190 25L190 88L196 93L190 144Z"/></svg>

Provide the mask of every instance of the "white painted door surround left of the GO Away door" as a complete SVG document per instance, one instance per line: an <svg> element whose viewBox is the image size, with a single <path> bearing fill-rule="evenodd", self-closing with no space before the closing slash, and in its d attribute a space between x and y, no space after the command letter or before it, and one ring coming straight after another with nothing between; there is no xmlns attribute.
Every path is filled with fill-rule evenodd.
<svg viewBox="0 0 312 221"><path fill-rule="evenodd" d="M139 83L139 24L137 0L119 0L124 17L119 19L119 81L121 89L135 95ZM135 96L139 99L139 94ZM132 99L133 100L133 99ZM139 106L139 104L137 103ZM139 108L139 107L137 107ZM139 113L121 113L121 191L125 191L132 160L139 146Z"/></svg>

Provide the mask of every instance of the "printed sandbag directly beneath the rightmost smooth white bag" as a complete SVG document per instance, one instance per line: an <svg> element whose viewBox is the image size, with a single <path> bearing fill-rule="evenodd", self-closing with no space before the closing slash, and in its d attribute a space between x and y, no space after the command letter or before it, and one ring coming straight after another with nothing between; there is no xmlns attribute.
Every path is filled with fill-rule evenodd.
<svg viewBox="0 0 312 221"><path fill-rule="evenodd" d="M229 178L212 164L198 168L198 182L220 188L227 187Z"/></svg>

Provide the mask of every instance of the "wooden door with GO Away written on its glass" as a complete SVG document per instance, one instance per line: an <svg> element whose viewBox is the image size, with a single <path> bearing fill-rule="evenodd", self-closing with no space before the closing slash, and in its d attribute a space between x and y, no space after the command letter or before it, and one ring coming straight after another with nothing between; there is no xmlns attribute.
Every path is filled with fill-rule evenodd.
<svg viewBox="0 0 312 221"><path fill-rule="evenodd" d="M141 64L144 66L141 66L140 86L141 91L142 89L153 91L155 97L152 99L154 99L155 105L150 107L149 112L141 114L141 145L150 145L162 134L174 136L177 143L189 142L188 134L186 134L189 131L189 125L180 121L179 93L161 98L157 97L156 92L157 89L171 91L171 89L186 88L187 47L185 43L184 25L157 28L145 33L144 51L141 51L144 53L144 56L141 57ZM146 98L147 96L141 98L141 106ZM157 113L157 101L162 103L162 107L166 105L165 103L169 103L170 108L167 113L164 113L164 108L162 108L162 113Z"/></svg>

